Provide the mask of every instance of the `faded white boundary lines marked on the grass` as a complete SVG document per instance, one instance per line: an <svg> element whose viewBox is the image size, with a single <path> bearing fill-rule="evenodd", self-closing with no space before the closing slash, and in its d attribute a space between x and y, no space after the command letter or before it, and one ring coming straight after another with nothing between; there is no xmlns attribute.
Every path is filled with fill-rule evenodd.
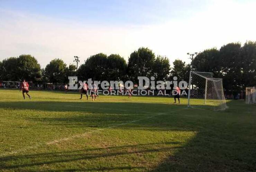
<svg viewBox="0 0 256 172"><path fill-rule="evenodd" d="M72 106L72 107L74 107L74 106ZM82 107L82 108L88 108L88 107ZM101 109L108 109L108 108L101 108ZM175 110L175 111L172 111L172 112L177 112L177 111L180 111L180 110L183 110L183 109L187 109L187 107L186 108L182 108L182 109L178 109L178 110ZM109 109L109 110L124 110L124 109ZM124 111L128 111L128 110L124 110ZM152 114L150 112L144 112L144 113ZM16 154L16 153L22 152L22 151L27 151L29 149L38 148L40 146L47 145L47 144L55 144L55 143L58 143L58 142L72 140L72 139L75 139L75 138L86 137L88 134L93 133L93 132L102 131L102 130L105 130L107 128L114 128L114 127L118 127L118 126L121 126L121 125L126 125L128 123L134 123L134 122L137 122L137 121L140 121L140 120L144 120L144 119L154 118L156 116L164 115L164 114L167 114L167 113L157 113L156 115L152 115L152 116L149 116L149 117L140 118L140 119L137 119L137 120L128 121L128 122L124 122L124 123L108 126L106 128L102 128L102 129L91 130L91 131L88 131L88 132L85 132L85 133L82 133L82 134L79 134L79 135L73 135L71 137L61 138L61 139L53 140L53 141L46 142L46 143L37 143L34 146L28 146L28 147L25 147L25 148L18 149L16 151L2 153L2 154L0 154L0 157L4 157L6 155L11 155L11 154Z"/></svg>

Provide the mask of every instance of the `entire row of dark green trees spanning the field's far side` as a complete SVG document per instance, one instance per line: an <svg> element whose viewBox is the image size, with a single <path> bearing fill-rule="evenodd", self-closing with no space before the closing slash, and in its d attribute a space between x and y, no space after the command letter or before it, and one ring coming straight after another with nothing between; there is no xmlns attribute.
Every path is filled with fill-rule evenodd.
<svg viewBox="0 0 256 172"><path fill-rule="evenodd" d="M68 76L79 80L131 80L137 83L138 76L155 77L155 80L189 80L190 70L213 72L214 77L223 78L226 90L239 91L256 85L256 42L247 41L223 45L219 50L207 49L198 53L190 64L175 60L171 67L167 57L155 55L152 50L140 47L132 52L128 63L118 54L99 53L90 56L77 69L56 58L45 68L34 56L20 55L0 62L0 81L26 79L34 83L68 83Z"/></svg>

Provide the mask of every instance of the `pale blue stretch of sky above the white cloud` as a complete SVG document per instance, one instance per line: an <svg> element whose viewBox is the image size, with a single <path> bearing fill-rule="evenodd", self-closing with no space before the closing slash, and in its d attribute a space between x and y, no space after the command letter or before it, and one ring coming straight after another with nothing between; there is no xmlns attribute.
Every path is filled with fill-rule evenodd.
<svg viewBox="0 0 256 172"><path fill-rule="evenodd" d="M152 24L188 17L205 6L203 1L169 0L45 0L1 1L3 9L89 24Z"/></svg>

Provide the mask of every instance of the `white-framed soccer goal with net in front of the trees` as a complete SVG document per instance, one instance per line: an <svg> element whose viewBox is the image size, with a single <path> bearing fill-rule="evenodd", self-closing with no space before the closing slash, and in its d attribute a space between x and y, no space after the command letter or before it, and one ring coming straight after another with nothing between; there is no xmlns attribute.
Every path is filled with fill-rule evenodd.
<svg viewBox="0 0 256 172"><path fill-rule="evenodd" d="M213 78L210 72L190 72L188 107L225 110L226 100L222 79Z"/></svg>

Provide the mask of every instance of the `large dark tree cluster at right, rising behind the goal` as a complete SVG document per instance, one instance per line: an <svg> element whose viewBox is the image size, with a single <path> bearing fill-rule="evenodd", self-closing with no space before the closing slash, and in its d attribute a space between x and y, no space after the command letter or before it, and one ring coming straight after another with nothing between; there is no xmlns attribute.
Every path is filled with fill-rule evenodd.
<svg viewBox="0 0 256 172"><path fill-rule="evenodd" d="M199 72L212 72L215 78L223 79L223 88L236 91L256 86L256 42L247 41L204 50L191 63Z"/></svg>

